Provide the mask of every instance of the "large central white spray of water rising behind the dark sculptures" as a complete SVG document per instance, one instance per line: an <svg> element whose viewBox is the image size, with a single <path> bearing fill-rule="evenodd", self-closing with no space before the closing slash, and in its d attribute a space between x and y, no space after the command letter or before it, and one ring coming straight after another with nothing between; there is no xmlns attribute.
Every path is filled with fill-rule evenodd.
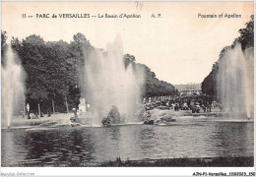
<svg viewBox="0 0 256 177"><path fill-rule="evenodd" d="M117 107L125 122L135 121L144 75L138 69L135 73L132 65L125 68L123 55L122 40L117 35L105 51L96 49L86 61L87 92L95 109L95 124L100 124L112 105Z"/></svg>

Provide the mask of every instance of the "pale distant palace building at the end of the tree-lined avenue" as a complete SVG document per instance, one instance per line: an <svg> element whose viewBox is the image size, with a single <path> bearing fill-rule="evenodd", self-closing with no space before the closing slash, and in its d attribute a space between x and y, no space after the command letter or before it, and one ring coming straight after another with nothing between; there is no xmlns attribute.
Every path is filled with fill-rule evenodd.
<svg viewBox="0 0 256 177"><path fill-rule="evenodd" d="M187 84L187 85L173 85L175 89L178 89L178 91L181 93L201 93L201 84Z"/></svg>

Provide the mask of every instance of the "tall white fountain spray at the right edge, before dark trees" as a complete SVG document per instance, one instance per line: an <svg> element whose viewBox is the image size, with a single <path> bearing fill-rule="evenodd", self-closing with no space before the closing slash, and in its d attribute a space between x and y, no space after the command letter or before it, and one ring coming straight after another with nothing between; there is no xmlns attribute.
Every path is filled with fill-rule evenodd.
<svg viewBox="0 0 256 177"><path fill-rule="evenodd" d="M242 51L241 45L236 43L219 60L217 78L220 100L230 104L236 112L246 112L247 118L252 117L254 108L253 58L253 48Z"/></svg>

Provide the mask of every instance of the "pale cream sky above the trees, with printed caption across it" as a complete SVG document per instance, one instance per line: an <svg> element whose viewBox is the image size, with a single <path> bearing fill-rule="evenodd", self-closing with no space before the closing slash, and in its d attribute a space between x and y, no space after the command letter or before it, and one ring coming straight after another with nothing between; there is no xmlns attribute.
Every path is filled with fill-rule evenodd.
<svg viewBox="0 0 256 177"><path fill-rule="evenodd" d="M199 13L218 18L200 18ZM36 14L90 14L91 18L36 18ZM141 18L92 17L105 14ZM160 18L152 18L153 14ZM219 17L222 14L241 18ZM134 55L160 80L199 84L253 14L253 2L2 2L2 30L9 39L38 34L45 41L67 42L81 32L98 48L120 34L124 53Z"/></svg>

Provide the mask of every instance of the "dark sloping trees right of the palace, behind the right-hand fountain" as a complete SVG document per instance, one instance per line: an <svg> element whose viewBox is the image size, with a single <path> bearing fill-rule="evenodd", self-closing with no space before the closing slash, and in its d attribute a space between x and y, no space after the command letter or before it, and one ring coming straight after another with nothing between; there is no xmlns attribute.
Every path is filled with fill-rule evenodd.
<svg viewBox="0 0 256 177"><path fill-rule="evenodd" d="M254 16L251 16L250 22L246 23L245 29L239 29L240 36L234 39L230 46L225 46L220 53L219 60L213 65L211 73L204 79L202 83L202 91L208 94L212 100L218 99L218 86L217 79L219 73L220 60L224 56L224 53L229 48L233 48L236 43L241 43L241 48L244 51L248 47L254 46Z"/></svg>

